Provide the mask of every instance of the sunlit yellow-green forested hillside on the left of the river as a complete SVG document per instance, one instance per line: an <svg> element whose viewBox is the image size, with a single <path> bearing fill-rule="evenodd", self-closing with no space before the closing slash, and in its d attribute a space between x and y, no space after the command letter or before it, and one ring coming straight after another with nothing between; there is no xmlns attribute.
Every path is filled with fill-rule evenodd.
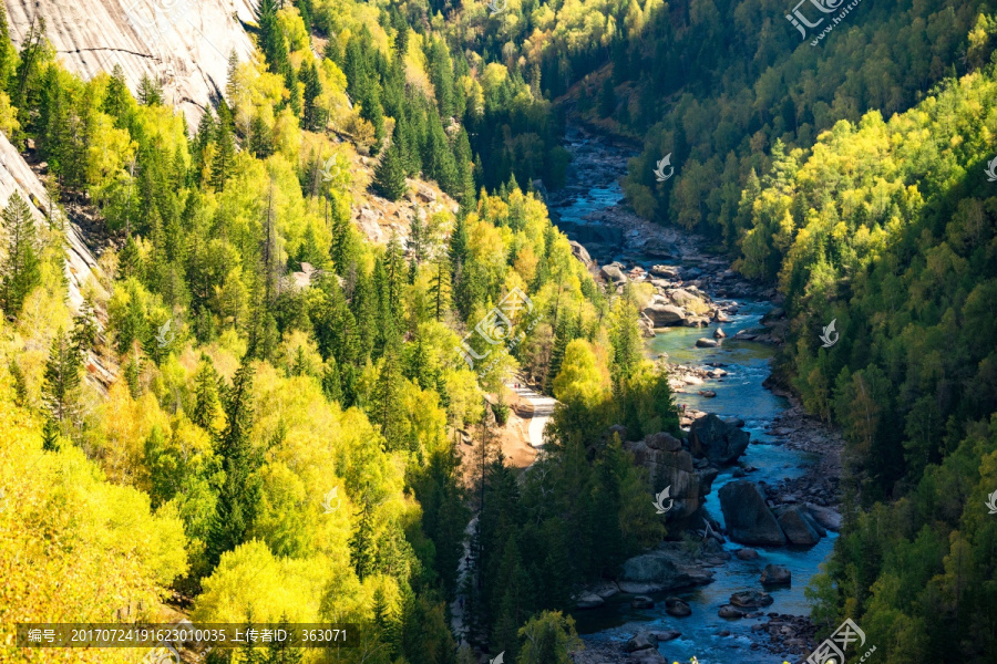
<svg viewBox="0 0 997 664"><path fill-rule="evenodd" d="M119 69L83 80L44 21L16 49L0 18L0 129L49 193L13 194L2 215L0 658L135 661L18 649L12 623L155 621L167 602L205 622L360 624L349 661L455 661L445 603L471 509L493 494L523 517L481 517L480 539L502 544L474 556L476 629L511 660L521 627L573 643L556 610L574 584L662 532L646 479L593 434L676 421L635 299L604 294L516 184L563 173L538 146L513 174L503 143L508 118L554 123L547 102L395 7L264 0L253 58L233 53L191 133L155 79L135 94ZM403 237L378 245L351 222L423 180L446 205ZM56 208L99 255L79 307ZM524 336L472 366L462 338L514 289ZM490 433L521 367L565 404L547 471L522 489ZM462 429L476 469L460 465ZM606 528L611 547L564 559Z"/></svg>

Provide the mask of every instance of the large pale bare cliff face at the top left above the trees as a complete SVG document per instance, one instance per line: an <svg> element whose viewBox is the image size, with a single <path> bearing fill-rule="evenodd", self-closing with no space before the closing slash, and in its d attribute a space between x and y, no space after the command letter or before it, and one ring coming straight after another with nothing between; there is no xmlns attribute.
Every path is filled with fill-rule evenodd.
<svg viewBox="0 0 997 664"><path fill-rule="evenodd" d="M9 0L14 45L37 17L56 58L84 80L121 65L132 92L143 76L160 80L166 103L196 126L225 90L228 55L241 61L253 43L254 0Z"/></svg>

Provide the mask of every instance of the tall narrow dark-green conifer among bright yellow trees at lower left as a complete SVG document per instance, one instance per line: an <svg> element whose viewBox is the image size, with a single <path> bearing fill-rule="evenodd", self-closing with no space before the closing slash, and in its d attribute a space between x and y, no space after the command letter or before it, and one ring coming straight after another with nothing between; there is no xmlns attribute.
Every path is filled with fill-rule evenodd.
<svg viewBox="0 0 997 664"><path fill-rule="evenodd" d="M247 354L232 386L222 395L225 425L215 438L215 454L222 461L225 479L218 490L216 512L207 537L213 566L218 563L222 553L246 540L256 518L259 459L249 443L254 416L253 373Z"/></svg>

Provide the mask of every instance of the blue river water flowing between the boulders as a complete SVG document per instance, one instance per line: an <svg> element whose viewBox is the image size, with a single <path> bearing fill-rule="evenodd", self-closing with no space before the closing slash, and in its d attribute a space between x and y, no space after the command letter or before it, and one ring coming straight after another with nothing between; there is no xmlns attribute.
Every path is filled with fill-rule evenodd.
<svg viewBox="0 0 997 664"><path fill-rule="evenodd" d="M682 264L681 257L662 260L654 257L635 256L626 248L618 246L618 236L626 232L607 231L596 228L598 220L587 217L605 217L606 210L623 200L623 190L618 177L625 172L627 149L609 142L569 129L566 147L572 152L574 162L568 170L568 186L564 193L552 198L551 209L561 227L572 239L583 245L596 241L593 258L600 264L609 260L624 258L627 268L641 264ZM664 231L662 232L674 232ZM758 328L761 317L771 309L769 302L738 299L740 309L723 323L729 336L741 329ZM763 480L770 485L785 478L796 478L804 474L804 468L816 461L816 456L779 444L778 439L767 433L772 421L789 407L787 400L774 395L762 386L769 375L770 362L774 354L770 345L750 341L726 339L720 347L698 349L695 342L700 336L711 336L716 324L702 328L668 328L658 331L658 335L649 339L646 352L649 357L668 353L672 363L696 365L720 363L729 373L722 378L708 380L695 390L712 390L713 398L706 398L691 393L676 395L680 404L696 409L716 413L721 417L740 417L746 422L746 430L751 434L751 445L742 457L741 464L753 466L748 475L752 481ZM712 491L706 500L709 512L721 523L718 490L732 479L733 467L720 471L713 483ZM623 644L638 631L675 630L681 633L679 639L661 643L658 651L668 662L689 662L696 656L700 664L781 664L783 660L798 661L800 655L789 653L771 653L761 643L768 643L764 632L752 632L751 626L768 620L740 619L728 620L717 615L718 609L729 603L732 593L743 590L762 590L759 575L768 563L785 566L792 572L792 585L765 589L774 603L765 609L767 613L806 615L810 606L803 595L803 589L819 571L834 546L836 533L829 532L820 543L809 549L794 547L764 548L753 547L759 552L758 560L742 561L732 557L727 564L713 568L712 583L685 592L670 592L668 595L679 596L692 609L688 618L672 618L665 612L665 595L652 595L656 608L636 610L630 608L629 595L617 595L607 600L599 609L575 611L579 634L589 646ZM731 553L742 548L728 542L723 546ZM722 634L722 635L721 635ZM754 647L752 647L754 646Z"/></svg>

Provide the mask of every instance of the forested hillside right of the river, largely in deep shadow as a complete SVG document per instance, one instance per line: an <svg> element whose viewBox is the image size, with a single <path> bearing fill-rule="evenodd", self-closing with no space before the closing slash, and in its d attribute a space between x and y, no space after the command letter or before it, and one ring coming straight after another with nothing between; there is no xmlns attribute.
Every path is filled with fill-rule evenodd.
<svg viewBox="0 0 997 664"><path fill-rule="evenodd" d="M626 180L638 212L705 234L785 297L778 373L847 439L849 510L814 618L855 619L886 662L990 661L994 18L862 3L812 48L789 9L676 7L575 103L646 132ZM668 153L676 176L656 183Z"/></svg>

